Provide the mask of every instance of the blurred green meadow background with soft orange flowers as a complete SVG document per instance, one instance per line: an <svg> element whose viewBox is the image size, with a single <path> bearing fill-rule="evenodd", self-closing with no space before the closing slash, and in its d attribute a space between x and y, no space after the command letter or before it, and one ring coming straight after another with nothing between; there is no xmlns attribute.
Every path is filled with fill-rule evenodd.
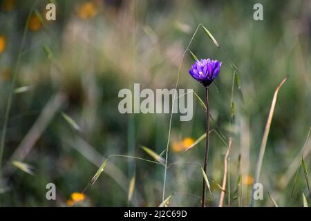
<svg viewBox="0 0 311 221"><path fill-rule="evenodd" d="M168 139L165 204L200 206L204 140L185 151L205 133L196 96L193 119L173 114L171 127L170 114L118 111L119 90L175 88L180 65L177 88L204 100L189 51L182 61L192 37L196 57L223 61L209 90L207 206L218 206L229 140L223 206L249 206L274 91L287 76L255 206L311 205L311 1L51 2L56 21L46 21L50 1L0 1L1 206L159 206ZM255 3L263 21L253 19ZM48 183L56 200L46 199Z"/></svg>

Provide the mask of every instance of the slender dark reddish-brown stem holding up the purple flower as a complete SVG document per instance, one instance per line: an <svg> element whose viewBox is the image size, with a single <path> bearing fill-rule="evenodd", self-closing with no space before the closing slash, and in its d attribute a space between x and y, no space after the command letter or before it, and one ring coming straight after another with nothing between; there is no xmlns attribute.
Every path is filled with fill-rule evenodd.
<svg viewBox="0 0 311 221"><path fill-rule="evenodd" d="M204 157L204 171L207 174L207 158L209 155L209 88L205 88L205 102L206 102L206 142L205 142L205 157ZM202 187L202 207L205 207L205 192L206 182L203 179Z"/></svg>

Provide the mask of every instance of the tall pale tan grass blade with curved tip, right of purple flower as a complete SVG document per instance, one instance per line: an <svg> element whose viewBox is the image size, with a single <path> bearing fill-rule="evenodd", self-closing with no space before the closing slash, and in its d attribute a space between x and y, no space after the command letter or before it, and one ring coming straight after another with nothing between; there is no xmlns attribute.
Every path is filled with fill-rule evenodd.
<svg viewBox="0 0 311 221"><path fill-rule="evenodd" d="M261 142L261 148L259 151L259 156L258 156L258 161L257 161L257 165L256 165L256 174L255 174L255 182L254 183L258 183L259 180L259 176L261 173L261 166L263 165L263 156L265 155L265 146L267 144L267 137L269 135L269 131L270 131L270 126L271 126L271 122L272 122L272 117L273 117L273 113L274 113L274 108L276 105L276 98L278 97L278 93L280 88L282 87L282 85L285 83L285 81L288 79L288 77L285 77L281 83L279 84L279 86L276 87L276 90L274 92L274 96L272 99L272 104L270 107L270 111L269 111L269 115L267 117L267 123L265 124L265 131L263 133L263 140ZM253 189L253 193L254 194L254 189ZM252 197L251 200L251 204L250 206L254 206L254 198Z"/></svg>

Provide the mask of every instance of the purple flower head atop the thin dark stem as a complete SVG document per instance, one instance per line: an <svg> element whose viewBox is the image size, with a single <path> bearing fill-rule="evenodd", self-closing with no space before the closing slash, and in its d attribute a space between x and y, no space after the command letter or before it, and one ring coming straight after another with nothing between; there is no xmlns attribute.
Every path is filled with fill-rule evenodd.
<svg viewBox="0 0 311 221"><path fill-rule="evenodd" d="M221 62L211 59L200 59L196 61L189 70L189 74L199 81L203 86L208 87L219 74Z"/></svg>

